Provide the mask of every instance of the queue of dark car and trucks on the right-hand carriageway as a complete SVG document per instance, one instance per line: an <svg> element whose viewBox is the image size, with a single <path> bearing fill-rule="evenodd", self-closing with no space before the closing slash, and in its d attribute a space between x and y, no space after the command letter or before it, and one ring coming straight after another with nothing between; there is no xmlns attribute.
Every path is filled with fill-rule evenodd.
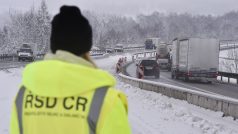
<svg viewBox="0 0 238 134"><path fill-rule="evenodd" d="M157 40L156 42L154 40ZM145 49L156 47L155 62L157 65L147 67L143 64L152 59L141 59L136 62L136 76L143 79L146 74L159 78L160 69L171 71L172 79L199 80L212 83L219 71L219 41L213 38L174 39L172 45L158 43L159 38L148 38ZM151 45L152 44L152 45ZM153 46L153 47L151 47ZM148 69L152 73L148 73ZM158 68L158 69L155 69ZM159 71L158 71L159 70Z"/></svg>

